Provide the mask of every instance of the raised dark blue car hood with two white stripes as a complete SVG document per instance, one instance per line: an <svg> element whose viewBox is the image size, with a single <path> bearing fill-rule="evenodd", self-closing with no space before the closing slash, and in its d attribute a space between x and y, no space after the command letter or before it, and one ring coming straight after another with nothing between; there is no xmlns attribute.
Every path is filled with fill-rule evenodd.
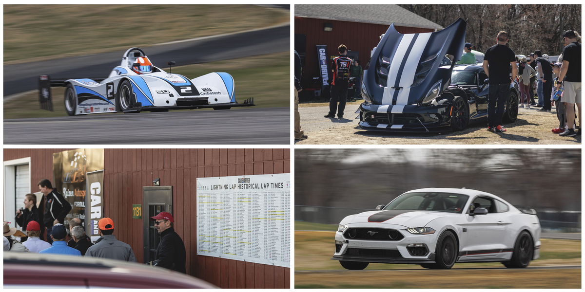
<svg viewBox="0 0 585 292"><path fill-rule="evenodd" d="M467 23L459 18L435 33L401 34L390 25L364 71L364 87L377 105L414 105L430 102L449 86L453 65L461 58Z"/></svg>

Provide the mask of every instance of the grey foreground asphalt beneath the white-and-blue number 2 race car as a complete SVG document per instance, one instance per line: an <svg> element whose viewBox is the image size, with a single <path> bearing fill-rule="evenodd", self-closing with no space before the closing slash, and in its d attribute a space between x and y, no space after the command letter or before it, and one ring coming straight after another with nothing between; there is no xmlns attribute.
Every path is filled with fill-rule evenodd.
<svg viewBox="0 0 585 292"><path fill-rule="evenodd" d="M290 108L4 120L4 144L290 144Z"/></svg>

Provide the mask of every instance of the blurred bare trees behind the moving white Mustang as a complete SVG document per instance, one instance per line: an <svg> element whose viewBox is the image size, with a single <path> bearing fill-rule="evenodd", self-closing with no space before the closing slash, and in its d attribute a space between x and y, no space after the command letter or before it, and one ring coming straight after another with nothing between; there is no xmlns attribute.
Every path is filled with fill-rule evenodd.
<svg viewBox="0 0 585 292"><path fill-rule="evenodd" d="M535 208L541 220L580 222L581 150L295 150L295 220L305 208L326 214L313 221L335 224L422 187L481 190Z"/></svg>

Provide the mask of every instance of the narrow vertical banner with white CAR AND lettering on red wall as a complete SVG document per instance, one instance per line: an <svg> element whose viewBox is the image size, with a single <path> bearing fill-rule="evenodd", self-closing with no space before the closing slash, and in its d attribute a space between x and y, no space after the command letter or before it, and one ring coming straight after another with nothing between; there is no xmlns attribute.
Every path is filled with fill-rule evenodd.
<svg viewBox="0 0 585 292"><path fill-rule="evenodd" d="M85 189L89 190L90 196L85 196L85 234L91 238L91 242L99 239L98 221L104 214L104 170L87 173Z"/></svg>

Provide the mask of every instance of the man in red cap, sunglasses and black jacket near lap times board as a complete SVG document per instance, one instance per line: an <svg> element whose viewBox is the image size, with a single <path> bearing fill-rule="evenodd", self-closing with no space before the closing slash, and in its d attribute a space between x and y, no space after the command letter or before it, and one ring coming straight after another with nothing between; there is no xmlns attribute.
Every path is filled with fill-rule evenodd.
<svg viewBox="0 0 585 292"><path fill-rule="evenodd" d="M185 260L187 259L187 252L185 252L183 239L179 237L173 228L173 215L168 212L161 212L154 217L150 217L150 220L154 221L154 227L160 233L160 244L156 249L156 259L159 262L155 265L186 274Z"/></svg>

